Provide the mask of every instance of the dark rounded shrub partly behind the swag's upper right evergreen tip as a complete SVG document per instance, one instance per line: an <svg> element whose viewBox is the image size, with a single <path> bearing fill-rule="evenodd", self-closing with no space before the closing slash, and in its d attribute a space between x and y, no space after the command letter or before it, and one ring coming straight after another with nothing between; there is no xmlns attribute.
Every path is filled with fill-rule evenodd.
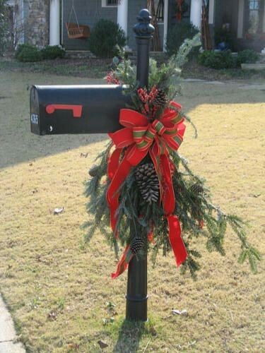
<svg viewBox="0 0 265 353"><path fill-rule="evenodd" d="M167 33L167 54L170 56L177 54L177 51L185 39L192 39L194 35L199 32L192 23L179 22L174 25ZM192 55L199 52L199 47L196 47L192 51Z"/></svg>

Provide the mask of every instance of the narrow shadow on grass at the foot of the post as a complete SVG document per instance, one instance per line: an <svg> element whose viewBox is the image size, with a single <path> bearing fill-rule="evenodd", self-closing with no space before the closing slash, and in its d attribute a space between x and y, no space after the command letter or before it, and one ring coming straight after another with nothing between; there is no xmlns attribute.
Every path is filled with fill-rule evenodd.
<svg viewBox="0 0 265 353"><path fill-rule="evenodd" d="M124 320L119 329L119 337L114 346L114 353L134 353L139 349L139 342L146 330L146 323Z"/></svg>

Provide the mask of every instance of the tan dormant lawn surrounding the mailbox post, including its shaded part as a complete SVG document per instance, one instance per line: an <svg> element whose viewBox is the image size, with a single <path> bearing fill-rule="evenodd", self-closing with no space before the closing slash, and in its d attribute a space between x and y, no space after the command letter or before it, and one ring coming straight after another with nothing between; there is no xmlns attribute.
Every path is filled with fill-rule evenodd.
<svg viewBox="0 0 265 353"><path fill-rule="evenodd" d="M198 244L196 282L179 274L173 256L159 256L148 268L149 322L124 321L126 275L111 280L112 251L100 234L84 246L80 229L83 181L107 137L30 134L32 83L69 77L0 73L0 292L28 352L101 352L98 341L105 352L262 352L264 262L257 275L239 265L232 234L225 257ZM249 220L249 239L264 253L264 92L184 83L183 93L199 138L188 128L179 152L208 179L216 203ZM53 215L57 207L64 213Z"/></svg>

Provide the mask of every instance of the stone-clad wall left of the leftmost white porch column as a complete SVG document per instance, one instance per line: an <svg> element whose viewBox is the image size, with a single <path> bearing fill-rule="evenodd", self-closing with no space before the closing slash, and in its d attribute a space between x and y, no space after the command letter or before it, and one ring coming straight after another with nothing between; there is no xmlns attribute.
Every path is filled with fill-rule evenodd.
<svg viewBox="0 0 265 353"><path fill-rule="evenodd" d="M49 44L49 0L24 0L26 41L37 47Z"/></svg>

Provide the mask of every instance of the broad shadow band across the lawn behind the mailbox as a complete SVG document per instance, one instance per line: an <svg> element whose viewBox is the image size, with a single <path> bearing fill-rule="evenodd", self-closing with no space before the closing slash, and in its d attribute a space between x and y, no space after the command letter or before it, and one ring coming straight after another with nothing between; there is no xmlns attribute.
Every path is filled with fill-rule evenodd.
<svg viewBox="0 0 265 353"><path fill-rule="evenodd" d="M99 84L103 83L103 80L8 71L0 71L0 75L0 92L3 92L0 95L0 169L76 148L83 148L83 153L91 155L94 143L108 139L106 134L36 136L30 133L30 93L27 87L31 84ZM201 104L228 105L264 102L263 88L263 84L185 82L183 83L183 96L176 97L176 101L182 104L184 112L188 114ZM214 109L216 107L213 107L213 114Z"/></svg>

